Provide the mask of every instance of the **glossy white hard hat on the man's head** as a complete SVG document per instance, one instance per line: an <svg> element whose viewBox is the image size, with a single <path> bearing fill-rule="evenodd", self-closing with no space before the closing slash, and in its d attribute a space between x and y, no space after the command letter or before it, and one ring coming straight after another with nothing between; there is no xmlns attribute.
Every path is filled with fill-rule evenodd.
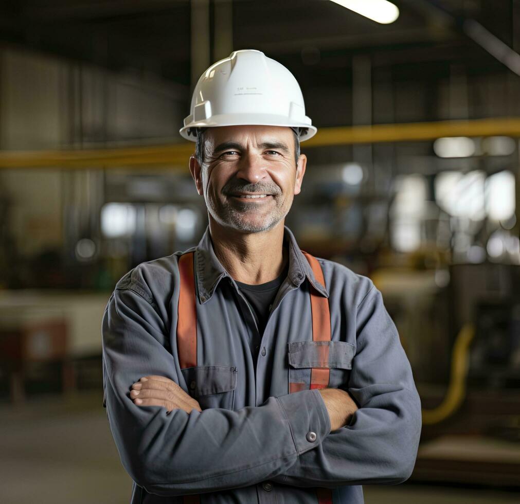
<svg viewBox="0 0 520 504"><path fill-rule="evenodd" d="M300 141L316 134L305 115L303 95L293 74L262 51L233 51L200 77L191 98L191 114L179 133L196 141L195 128L263 124L289 126Z"/></svg>

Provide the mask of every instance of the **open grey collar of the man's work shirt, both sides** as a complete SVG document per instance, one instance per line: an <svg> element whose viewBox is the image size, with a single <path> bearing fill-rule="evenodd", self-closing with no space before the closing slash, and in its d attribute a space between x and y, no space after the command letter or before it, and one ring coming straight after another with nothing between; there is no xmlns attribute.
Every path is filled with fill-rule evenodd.
<svg viewBox="0 0 520 504"><path fill-rule="evenodd" d="M294 235L287 226L283 227L283 245L289 248L289 281L292 282L295 287L300 287L305 278L307 278L321 295L328 298L329 292L314 276L313 270L305 258L305 255L303 255L298 247ZM204 304L213 296L218 283L225 277L229 278L229 281L236 287L235 281L231 278L224 266L220 264L215 254L209 226L207 226L204 235L197 245L194 263L199 302L201 304Z"/></svg>

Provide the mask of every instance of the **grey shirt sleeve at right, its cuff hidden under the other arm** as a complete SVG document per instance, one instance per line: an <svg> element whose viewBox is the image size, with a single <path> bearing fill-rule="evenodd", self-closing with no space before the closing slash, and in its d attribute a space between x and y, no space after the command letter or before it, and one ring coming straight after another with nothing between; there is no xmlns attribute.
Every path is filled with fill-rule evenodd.
<svg viewBox="0 0 520 504"><path fill-rule="evenodd" d="M410 477L421 433L421 403L397 329L375 287L358 307L356 331L347 390L359 409L348 426L331 432L272 481L334 488L397 484Z"/></svg>

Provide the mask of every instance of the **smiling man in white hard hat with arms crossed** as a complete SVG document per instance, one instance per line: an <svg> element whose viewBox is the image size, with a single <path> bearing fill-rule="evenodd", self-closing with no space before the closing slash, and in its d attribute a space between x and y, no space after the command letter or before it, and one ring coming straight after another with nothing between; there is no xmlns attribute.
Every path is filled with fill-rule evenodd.
<svg viewBox="0 0 520 504"><path fill-rule="evenodd" d="M140 264L103 317L107 414L137 502L363 502L408 479L420 400L366 277L303 253L284 218L316 133L292 74L235 51L181 135L209 213L196 248Z"/></svg>

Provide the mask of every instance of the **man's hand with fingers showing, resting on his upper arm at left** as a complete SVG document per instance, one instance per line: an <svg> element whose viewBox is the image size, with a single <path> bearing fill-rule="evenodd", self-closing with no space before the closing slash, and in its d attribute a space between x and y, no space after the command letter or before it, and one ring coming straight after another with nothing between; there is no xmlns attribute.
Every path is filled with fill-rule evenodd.
<svg viewBox="0 0 520 504"><path fill-rule="evenodd" d="M184 392L177 383L164 376L142 377L132 385L130 397L137 406L163 406L168 413L172 409L184 409L188 414L196 409L202 411L199 403Z"/></svg>

